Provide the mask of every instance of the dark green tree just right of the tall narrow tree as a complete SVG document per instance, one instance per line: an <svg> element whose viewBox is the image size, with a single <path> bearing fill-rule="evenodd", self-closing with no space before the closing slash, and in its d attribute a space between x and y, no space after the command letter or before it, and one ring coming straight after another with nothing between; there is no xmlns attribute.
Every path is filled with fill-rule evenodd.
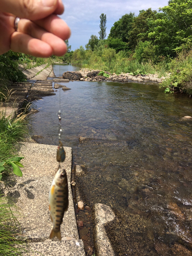
<svg viewBox="0 0 192 256"><path fill-rule="evenodd" d="M117 22L114 23L110 30L109 37L119 38L123 42L128 42L128 33L132 28L133 18L135 13L130 12L130 14L123 15Z"/></svg>

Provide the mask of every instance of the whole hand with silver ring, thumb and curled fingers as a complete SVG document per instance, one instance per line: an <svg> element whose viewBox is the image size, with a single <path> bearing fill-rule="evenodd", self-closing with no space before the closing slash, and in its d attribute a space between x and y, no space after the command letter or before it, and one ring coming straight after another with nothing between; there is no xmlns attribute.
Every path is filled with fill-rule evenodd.
<svg viewBox="0 0 192 256"><path fill-rule="evenodd" d="M62 56L70 28L57 15L62 0L0 0L0 54L9 50L35 57ZM19 17L15 31L15 17Z"/></svg>

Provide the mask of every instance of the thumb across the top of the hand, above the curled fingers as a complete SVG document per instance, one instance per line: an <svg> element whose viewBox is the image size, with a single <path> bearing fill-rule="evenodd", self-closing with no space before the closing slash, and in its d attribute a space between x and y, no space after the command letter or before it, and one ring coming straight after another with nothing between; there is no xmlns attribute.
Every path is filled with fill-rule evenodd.
<svg viewBox="0 0 192 256"><path fill-rule="evenodd" d="M1 0L0 11L9 12L19 18L37 20L54 13L59 0Z"/></svg>

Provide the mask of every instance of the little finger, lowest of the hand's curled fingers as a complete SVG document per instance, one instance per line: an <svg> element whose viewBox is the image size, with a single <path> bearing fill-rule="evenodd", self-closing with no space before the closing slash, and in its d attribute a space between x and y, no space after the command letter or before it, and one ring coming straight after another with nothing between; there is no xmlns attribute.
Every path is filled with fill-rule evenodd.
<svg viewBox="0 0 192 256"><path fill-rule="evenodd" d="M13 52L22 52L35 57L50 57L53 54L53 50L47 42L20 32L12 34L10 49Z"/></svg>

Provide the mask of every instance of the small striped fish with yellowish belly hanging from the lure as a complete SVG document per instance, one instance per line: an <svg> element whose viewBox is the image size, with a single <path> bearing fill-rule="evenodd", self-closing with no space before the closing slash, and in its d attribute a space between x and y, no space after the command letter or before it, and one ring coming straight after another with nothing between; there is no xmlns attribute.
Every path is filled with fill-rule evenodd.
<svg viewBox="0 0 192 256"><path fill-rule="evenodd" d="M49 212L53 229L50 234L50 239L57 237L61 240L60 225L64 212L67 211L69 205L68 200L68 181L66 170L59 168L49 191Z"/></svg>

